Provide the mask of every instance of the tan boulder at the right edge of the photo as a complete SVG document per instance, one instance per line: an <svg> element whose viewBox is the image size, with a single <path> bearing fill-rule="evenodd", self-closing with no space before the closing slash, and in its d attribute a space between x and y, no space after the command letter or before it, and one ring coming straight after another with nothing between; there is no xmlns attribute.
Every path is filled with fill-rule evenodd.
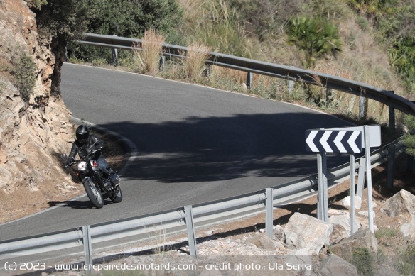
<svg viewBox="0 0 415 276"><path fill-rule="evenodd" d="M415 219L415 196L402 189L384 202L381 211L388 216L403 216L411 221Z"/></svg>

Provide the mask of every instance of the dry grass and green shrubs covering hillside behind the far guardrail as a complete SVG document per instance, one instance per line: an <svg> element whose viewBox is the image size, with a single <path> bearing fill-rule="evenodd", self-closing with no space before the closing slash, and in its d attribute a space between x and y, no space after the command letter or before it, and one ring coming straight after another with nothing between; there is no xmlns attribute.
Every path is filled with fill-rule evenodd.
<svg viewBox="0 0 415 276"><path fill-rule="evenodd" d="M84 1L81 1L84 3ZM411 0L99 0L89 5L85 30L194 45L240 57L302 67L394 91L412 99L415 76L415 3ZM139 45L138 45L139 46ZM205 50L196 50L198 52ZM109 65L105 48L72 43L70 61ZM119 51L119 67L146 74L143 58ZM170 60L161 77L245 92L246 73L214 67L210 77L189 77L182 60ZM203 70L198 70L203 72ZM323 87L254 75L249 93L294 101L357 118L359 99ZM398 123L403 122L398 116ZM362 119L362 118L358 118ZM365 120L387 123L388 109L367 102Z"/></svg>

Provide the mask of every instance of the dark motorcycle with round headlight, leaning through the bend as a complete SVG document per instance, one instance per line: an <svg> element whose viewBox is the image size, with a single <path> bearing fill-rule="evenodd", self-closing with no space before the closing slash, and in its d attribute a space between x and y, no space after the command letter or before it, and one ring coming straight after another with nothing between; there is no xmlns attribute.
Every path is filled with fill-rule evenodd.
<svg viewBox="0 0 415 276"><path fill-rule="evenodd" d="M104 177L103 172L99 170L97 161L91 158L99 150L101 149L92 150L85 158L75 159L70 164L65 165L65 168L77 164L78 172L76 175L82 182L88 198L95 207L102 208L106 198L111 199L114 203L121 202L122 192L119 187L118 175L112 175L112 179ZM67 158L65 154L62 157Z"/></svg>

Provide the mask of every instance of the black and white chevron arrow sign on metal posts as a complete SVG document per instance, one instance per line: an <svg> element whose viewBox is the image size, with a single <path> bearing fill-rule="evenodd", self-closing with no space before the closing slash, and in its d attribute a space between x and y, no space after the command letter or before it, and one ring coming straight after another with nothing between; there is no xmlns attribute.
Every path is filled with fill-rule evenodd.
<svg viewBox="0 0 415 276"><path fill-rule="evenodd" d="M307 130L306 150L313 153L361 153L361 131Z"/></svg>

